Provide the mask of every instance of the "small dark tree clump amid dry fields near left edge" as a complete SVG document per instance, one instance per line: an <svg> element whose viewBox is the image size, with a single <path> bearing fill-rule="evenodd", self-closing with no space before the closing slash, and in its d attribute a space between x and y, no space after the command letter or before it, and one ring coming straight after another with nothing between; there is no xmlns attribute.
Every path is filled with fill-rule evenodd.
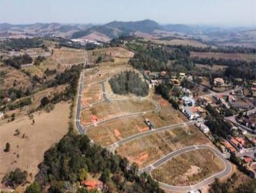
<svg viewBox="0 0 256 193"><path fill-rule="evenodd" d="M28 54L24 54L22 56L13 56L8 59L4 59L3 62L5 65L20 69L21 65L30 64L32 61L33 59Z"/></svg>

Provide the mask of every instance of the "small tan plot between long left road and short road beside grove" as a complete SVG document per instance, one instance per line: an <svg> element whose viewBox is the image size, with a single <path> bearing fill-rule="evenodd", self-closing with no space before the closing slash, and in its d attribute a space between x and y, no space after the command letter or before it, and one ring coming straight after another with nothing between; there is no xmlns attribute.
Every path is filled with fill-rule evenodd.
<svg viewBox="0 0 256 193"><path fill-rule="evenodd" d="M82 105L89 105L93 102L97 102L102 100L102 87L101 84L92 84L90 86L86 86L83 89L82 93Z"/></svg>

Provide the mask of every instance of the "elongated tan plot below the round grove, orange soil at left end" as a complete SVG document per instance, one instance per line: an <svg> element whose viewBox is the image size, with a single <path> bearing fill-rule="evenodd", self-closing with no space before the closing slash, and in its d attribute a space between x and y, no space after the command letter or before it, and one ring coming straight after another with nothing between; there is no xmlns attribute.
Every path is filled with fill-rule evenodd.
<svg viewBox="0 0 256 193"><path fill-rule="evenodd" d="M148 100L125 100L115 102L103 102L81 112L81 122L84 125L97 123L97 121L109 120L115 116L122 116L134 112L144 112L156 109L156 106Z"/></svg>

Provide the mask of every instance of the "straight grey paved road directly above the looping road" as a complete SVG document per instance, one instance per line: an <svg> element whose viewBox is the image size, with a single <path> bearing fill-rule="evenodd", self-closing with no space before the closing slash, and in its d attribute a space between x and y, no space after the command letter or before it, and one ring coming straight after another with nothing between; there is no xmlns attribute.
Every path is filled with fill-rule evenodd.
<svg viewBox="0 0 256 193"><path fill-rule="evenodd" d="M174 124L174 125L167 125L165 127L156 128L156 129L153 129L153 130L148 130L147 132L142 132L140 134L135 134L135 135L132 135L132 136L127 137L125 139L122 139L121 141L118 141L114 144L111 144L110 146L107 146L106 148L108 148L108 150L111 150L113 152L113 151L115 151L115 148L117 148L121 144L128 143L129 141L133 141L135 139L139 139L139 138L145 137L147 135L156 134L157 132L162 132L164 130L169 130L169 129L177 128L177 127L184 127L186 125L193 125L193 124L195 124L193 121L188 121L188 122L184 122L184 123L177 123L177 124Z"/></svg>

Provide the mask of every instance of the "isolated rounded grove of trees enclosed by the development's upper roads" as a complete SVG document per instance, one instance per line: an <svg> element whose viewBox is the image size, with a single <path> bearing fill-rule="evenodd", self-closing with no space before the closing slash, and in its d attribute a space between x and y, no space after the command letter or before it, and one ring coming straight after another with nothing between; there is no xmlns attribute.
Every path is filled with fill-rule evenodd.
<svg viewBox="0 0 256 193"><path fill-rule="evenodd" d="M137 96L148 95L149 87L147 82L142 81L138 73L131 70L126 70L113 76L109 80L109 84L113 93L118 95L127 95L128 93L132 93Z"/></svg>

